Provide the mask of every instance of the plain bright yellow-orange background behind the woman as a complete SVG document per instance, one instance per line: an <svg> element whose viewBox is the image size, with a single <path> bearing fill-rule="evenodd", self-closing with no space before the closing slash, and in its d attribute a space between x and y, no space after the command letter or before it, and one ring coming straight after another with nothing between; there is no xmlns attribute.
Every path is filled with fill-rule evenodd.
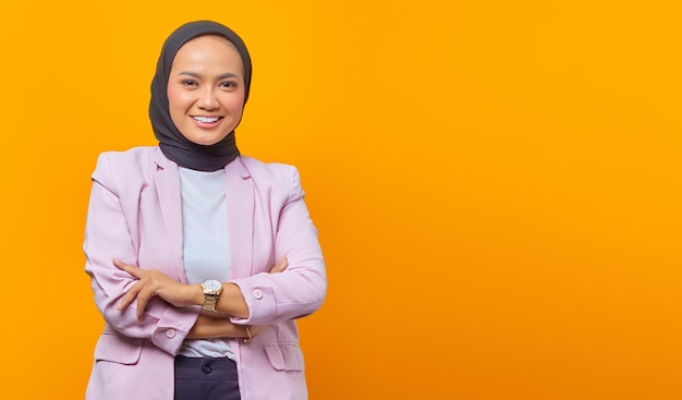
<svg viewBox="0 0 682 400"><path fill-rule="evenodd" d="M0 398L83 397L89 174L155 144L196 19L248 45L238 143L320 230L312 399L682 399L672 0L3 1Z"/></svg>

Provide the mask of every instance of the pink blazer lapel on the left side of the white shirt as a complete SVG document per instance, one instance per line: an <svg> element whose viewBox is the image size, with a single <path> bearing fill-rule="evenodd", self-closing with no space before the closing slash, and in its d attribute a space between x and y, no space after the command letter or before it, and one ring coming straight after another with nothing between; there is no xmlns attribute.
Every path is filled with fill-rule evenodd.
<svg viewBox="0 0 682 400"><path fill-rule="evenodd" d="M161 151L157 153L155 161L157 171L154 182L166 227L166 234L170 244L168 251L171 252L172 258L175 260L172 266L175 276L183 283L186 283L187 278L182 263L182 195L178 166L163 157Z"/></svg>

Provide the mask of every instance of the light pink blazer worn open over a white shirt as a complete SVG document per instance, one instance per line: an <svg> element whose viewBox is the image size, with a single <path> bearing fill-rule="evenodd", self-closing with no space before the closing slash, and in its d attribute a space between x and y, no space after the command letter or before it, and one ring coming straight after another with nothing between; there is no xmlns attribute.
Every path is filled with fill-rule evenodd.
<svg viewBox="0 0 682 400"><path fill-rule="evenodd" d="M232 340L242 400L306 399L295 318L322 303L325 262L294 167L240 157L226 167L232 282L249 317L268 325L248 343ZM93 173L84 251L95 303L106 320L95 349L86 399L172 400L173 357L199 307L178 308L155 298L144 320L135 304L115 306L134 283L115 257L186 282L178 166L158 147L103 153ZM287 256L289 268L268 274Z"/></svg>

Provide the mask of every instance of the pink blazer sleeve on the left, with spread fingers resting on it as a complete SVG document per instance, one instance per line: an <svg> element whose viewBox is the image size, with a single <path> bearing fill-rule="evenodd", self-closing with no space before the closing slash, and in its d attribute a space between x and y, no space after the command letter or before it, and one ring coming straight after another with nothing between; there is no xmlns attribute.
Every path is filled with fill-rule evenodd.
<svg viewBox="0 0 682 400"><path fill-rule="evenodd" d="M136 221L139 193L145 186L139 170L130 167L134 162L119 158L119 154L100 155L92 177L83 244L85 271L92 278L95 303L111 328L131 338L148 339L166 352L176 354L198 310L178 308L158 298L147 305L142 322L136 319L135 302L124 311L117 310L136 279L113 266L112 259L137 265Z"/></svg>

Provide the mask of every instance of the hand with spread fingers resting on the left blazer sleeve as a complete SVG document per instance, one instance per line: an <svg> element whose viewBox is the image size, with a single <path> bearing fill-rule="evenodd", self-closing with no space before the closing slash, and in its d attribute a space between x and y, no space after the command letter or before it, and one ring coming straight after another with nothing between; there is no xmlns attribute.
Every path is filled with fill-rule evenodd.
<svg viewBox="0 0 682 400"><path fill-rule="evenodd" d="M199 290L195 286L181 283L158 269L142 269L118 259L113 260L113 265L137 279L117 307L124 310L136 299L137 320L142 320L149 300L155 295L178 307L196 304Z"/></svg>

